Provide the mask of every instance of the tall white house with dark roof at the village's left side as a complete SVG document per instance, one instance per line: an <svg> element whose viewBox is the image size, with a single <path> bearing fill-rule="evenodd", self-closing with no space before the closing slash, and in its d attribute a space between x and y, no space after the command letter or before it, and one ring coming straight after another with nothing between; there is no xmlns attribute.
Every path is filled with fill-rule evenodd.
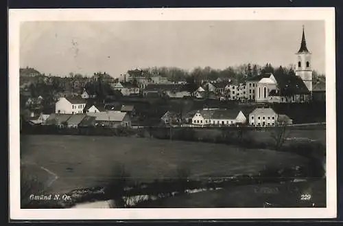
<svg viewBox="0 0 343 226"><path fill-rule="evenodd" d="M55 104L55 113L79 114L83 113L86 100L82 98L60 98Z"/></svg>

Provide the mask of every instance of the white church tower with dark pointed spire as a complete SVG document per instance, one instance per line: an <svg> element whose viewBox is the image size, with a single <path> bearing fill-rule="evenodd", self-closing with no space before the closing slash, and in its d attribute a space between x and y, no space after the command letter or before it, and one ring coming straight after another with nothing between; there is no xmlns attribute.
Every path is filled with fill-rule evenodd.
<svg viewBox="0 0 343 226"><path fill-rule="evenodd" d="M296 53L296 76L299 76L305 83L307 89L309 89L309 91L312 91L311 52L309 52L306 46L304 27L300 49Z"/></svg>

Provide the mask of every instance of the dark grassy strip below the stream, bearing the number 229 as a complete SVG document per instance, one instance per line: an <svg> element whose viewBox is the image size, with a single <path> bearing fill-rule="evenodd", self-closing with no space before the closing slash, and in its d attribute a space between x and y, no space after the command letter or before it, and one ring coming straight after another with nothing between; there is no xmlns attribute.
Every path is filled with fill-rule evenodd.
<svg viewBox="0 0 343 226"><path fill-rule="evenodd" d="M307 199L301 199L303 194L307 195ZM326 207L326 195L326 181L322 179L298 183L241 185L223 190L183 194L154 201L149 207Z"/></svg>

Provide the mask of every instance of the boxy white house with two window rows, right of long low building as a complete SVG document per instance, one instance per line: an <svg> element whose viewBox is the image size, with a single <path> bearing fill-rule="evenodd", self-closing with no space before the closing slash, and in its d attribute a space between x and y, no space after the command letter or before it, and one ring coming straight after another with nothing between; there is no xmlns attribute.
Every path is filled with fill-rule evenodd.
<svg viewBox="0 0 343 226"><path fill-rule="evenodd" d="M271 108L257 108L249 114L250 126L275 126L278 115Z"/></svg>

